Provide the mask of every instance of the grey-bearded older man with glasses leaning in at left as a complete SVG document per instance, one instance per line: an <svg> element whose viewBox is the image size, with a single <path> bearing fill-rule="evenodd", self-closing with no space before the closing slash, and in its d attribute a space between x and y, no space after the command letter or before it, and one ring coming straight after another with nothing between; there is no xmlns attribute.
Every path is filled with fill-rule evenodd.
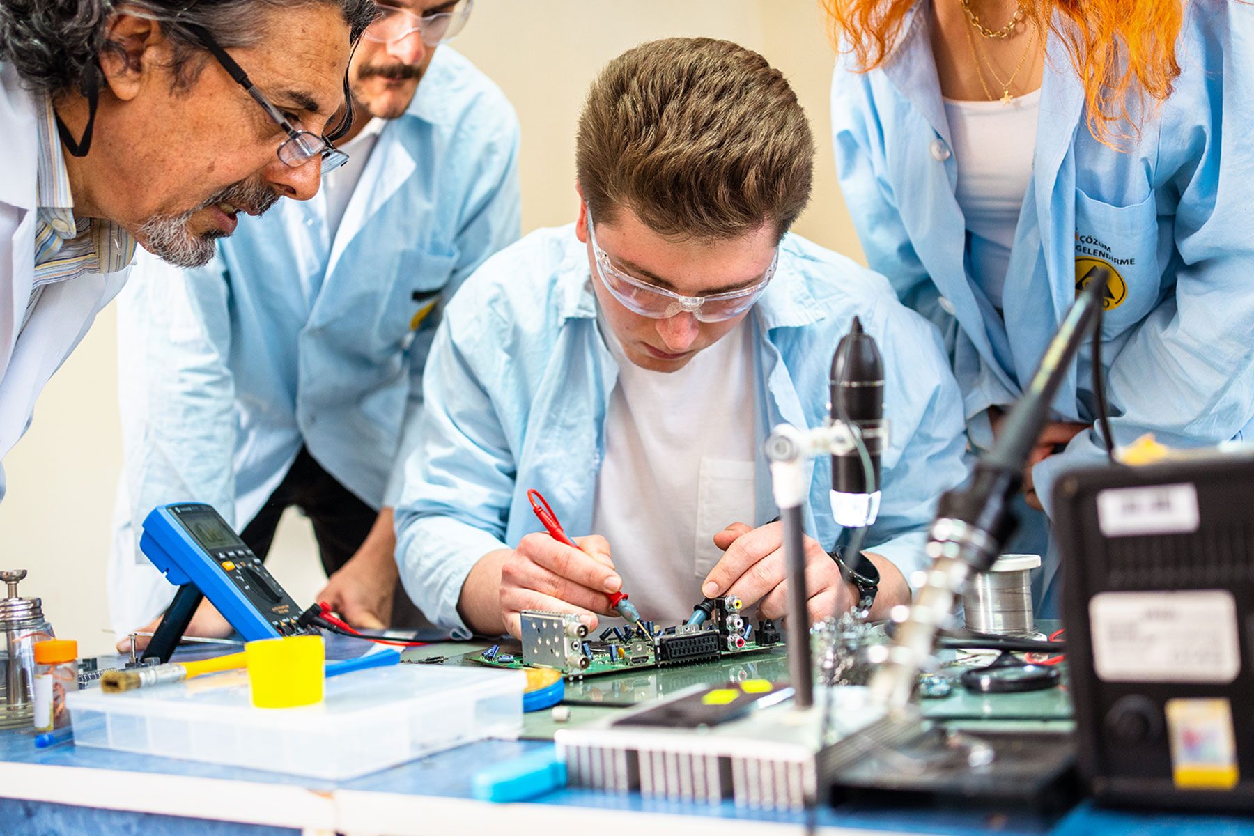
<svg viewBox="0 0 1254 836"><path fill-rule="evenodd" d="M0 456L137 244L203 263L240 212L314 197L374 14L369 0L0 4Z"/></svg>

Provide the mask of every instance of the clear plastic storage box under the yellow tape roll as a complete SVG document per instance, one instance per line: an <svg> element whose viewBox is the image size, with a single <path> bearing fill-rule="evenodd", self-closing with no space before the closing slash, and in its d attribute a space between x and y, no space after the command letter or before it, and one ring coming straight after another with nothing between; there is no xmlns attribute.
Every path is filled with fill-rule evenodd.
<svg viewBox="0 0 1254 836"><path fill-rule="evenodd" d="M78 746L340 781L487 737L517 738L520 672L399 664L326 681L303 708L253 708L243 671L68 696Z"/></svg>

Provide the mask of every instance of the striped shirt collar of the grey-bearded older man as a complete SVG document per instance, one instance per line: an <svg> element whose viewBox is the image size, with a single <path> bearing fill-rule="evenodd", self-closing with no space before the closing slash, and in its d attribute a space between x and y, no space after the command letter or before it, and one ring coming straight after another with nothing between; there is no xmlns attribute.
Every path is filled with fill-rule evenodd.
<svg viewBox="0 0 1254 836"><path fill-rule="evenodd" d="M112 221L74 217L74 196L51 102L45 99L43 110L35 119L35 286L125 268L135 254L134 237Z"/></svg>

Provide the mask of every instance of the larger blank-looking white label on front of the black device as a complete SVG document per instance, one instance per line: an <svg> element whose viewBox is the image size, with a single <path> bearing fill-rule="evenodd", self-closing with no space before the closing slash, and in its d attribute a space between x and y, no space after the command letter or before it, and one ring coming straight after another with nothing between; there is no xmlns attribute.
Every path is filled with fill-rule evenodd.
<svg viewBox="0 0 1254 836"><path fill-rule="evenodd" d="M1088 602L1093 669L1106 682L1224 684L1241 671L1226 589L1104 592Z"/></svg>

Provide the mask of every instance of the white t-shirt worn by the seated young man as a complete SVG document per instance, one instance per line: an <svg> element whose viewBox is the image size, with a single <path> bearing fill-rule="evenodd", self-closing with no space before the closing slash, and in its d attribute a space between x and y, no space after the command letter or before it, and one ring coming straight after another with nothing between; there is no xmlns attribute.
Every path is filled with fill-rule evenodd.
<svg viewBox="0 0 1254 836"><path fill-rule="evenodd" d="M698 603L722 556L714 535L754 524L754 353L746 320L683 368L641 368L601 322L618 361L592 533L609 541L623 589L647 620L670 625Z"/></svg>

